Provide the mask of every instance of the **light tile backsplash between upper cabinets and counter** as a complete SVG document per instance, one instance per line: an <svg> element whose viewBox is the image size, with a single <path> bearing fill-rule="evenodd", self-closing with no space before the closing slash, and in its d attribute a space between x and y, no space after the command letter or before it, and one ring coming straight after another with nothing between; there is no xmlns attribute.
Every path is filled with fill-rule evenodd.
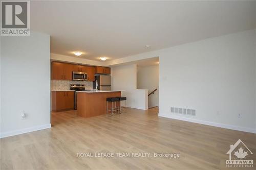
<svg viewBox="0 0 256 170"><path fill-rule="evenodd" d="M51 90L69 90L70 84L84 84L86 89L93 88L93 82L89 81L51 80Z"/></svg>

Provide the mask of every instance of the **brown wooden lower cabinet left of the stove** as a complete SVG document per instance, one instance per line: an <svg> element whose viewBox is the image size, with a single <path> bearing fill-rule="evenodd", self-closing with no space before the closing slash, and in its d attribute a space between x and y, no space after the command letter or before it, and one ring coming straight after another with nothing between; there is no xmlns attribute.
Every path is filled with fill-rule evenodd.
<svg viewBox="0 0 256 170"><path fill-rule="evenodd" d="M52 110L74 109L75 91L52 91Z"/></svg>

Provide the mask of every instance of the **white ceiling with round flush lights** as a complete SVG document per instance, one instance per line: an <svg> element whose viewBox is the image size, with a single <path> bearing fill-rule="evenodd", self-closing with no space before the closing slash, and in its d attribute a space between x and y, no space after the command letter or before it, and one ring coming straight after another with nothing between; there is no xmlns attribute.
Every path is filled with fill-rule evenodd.
<svg viewBox="0 0 256 170"><path fill-rule="evenodd" d="M31 1L31 29L51 35L51 53L91 60L254 28L256 1Z"/></svg>

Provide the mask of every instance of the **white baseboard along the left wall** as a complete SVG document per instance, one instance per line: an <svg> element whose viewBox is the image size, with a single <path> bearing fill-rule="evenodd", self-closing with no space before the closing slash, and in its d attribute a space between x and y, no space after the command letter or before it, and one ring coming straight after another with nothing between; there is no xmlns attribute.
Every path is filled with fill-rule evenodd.
<svg viewBox="0 0 256 170"><path fill-rule="evenodd" d="M48 128L51 128L51 124L34 126L34 127L30 127L30 128L24 128L24 129L20 129L20 130L4 132L4 133L0 133L0 138L19 135L19 134L23 134L23 133L29 133L29 132L33 132L33 131L48 129Z"/></svg>

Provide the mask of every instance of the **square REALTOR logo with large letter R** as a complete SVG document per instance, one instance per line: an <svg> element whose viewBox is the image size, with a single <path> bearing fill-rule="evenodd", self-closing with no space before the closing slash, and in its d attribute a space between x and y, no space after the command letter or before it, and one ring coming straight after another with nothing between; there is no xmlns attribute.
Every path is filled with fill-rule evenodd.
<svg viewBox="0 0 256 170"><path fill-rule="evenodd" d="M30 35L30 2L1 1L2 36Z"/></svg>

